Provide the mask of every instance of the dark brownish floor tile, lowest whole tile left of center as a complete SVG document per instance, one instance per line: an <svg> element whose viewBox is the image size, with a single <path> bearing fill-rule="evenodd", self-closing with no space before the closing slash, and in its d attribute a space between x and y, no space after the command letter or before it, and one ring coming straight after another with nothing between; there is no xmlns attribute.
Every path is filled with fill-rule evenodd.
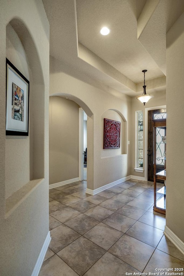
<svg viewBox="0 0 184 276"><path fill-rule="evenodd" d="M106 252L85 237L80 237L57 253L79 275L83 275ZM85 261L84 261L85 260Z"/></svg>

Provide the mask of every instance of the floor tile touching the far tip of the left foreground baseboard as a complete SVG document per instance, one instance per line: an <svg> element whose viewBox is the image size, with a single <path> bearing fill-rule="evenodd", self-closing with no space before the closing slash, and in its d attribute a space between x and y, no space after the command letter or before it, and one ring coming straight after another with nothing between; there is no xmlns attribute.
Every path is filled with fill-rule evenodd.
<svg viewBox="0 0 184 276"><path fill-rule="evenodd" d="M64 224L52 229L50 231L50 234L51 242L49 248L55 253L57 253L62 248L81 236Z"/></svg>

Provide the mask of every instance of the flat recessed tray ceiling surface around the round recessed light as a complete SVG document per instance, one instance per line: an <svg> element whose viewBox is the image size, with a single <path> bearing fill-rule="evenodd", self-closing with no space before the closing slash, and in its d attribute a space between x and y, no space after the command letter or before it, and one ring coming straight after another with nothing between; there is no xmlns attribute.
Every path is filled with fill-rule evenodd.
<svg viewBox="0 0 184 276"><path fill-rule="evenodd" d="M137 18L131 2L76 0L77 33L81 44L139 83L143 69L148 70L147 79L164 74L137 39ZM103 26L110 28L109 35L100 34Z"/></svg>

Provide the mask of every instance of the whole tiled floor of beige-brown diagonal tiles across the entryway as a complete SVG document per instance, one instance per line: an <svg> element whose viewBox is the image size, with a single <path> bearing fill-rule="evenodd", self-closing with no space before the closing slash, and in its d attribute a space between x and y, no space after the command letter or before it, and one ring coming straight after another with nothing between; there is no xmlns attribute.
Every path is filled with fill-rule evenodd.
<svg viewBox="0 0 184 276"><path fill-rule="evenodd" d="M184 255L163 234L165 217L153 213L152 183L130 179L94 196L86 187L78 181L49 190L52 239L39 276L184 267Z"/></svg>

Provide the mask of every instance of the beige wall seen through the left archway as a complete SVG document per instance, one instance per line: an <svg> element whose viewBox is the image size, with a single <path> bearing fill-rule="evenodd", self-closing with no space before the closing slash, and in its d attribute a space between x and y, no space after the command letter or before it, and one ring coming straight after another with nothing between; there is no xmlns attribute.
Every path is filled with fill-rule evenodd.
<svg viewBox="0 0 184 276"><path fill-rule="evenodd" d="M78 110L74 101L49 98L49 184L78 177Z"/></svg>

